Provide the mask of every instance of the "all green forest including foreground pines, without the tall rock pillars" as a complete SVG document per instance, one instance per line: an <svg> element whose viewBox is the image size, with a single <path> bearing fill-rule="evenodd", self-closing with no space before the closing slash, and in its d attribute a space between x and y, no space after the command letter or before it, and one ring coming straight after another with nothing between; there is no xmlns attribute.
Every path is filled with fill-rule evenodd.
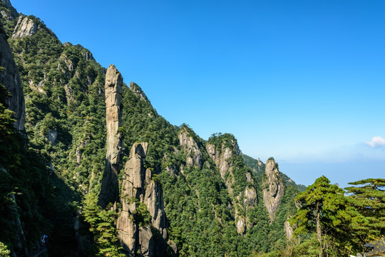
<svg viewBox="0 0 385 257"><path fill-rule="evenodd" d="M206 141L187 124L170 124L131 82L122 88L118 183L121 191L131 146L148 143L143 170L161 188L167 233L142 199L128 199L130 221L149 228L152 242L148 250L133 238L128 253L117 236L123 200L98 206L107 69L83 46L62 44L39 18L7 1L0 11L25 99L25 131L17 131L12 96L0 83L0 256L34 256L43 235L40 256L350 256L385 243L385 178L339 188L322 176L298 185L274 158L267 171L267 162L242 154L230 133ZM38 29L14 36L24 19Z"/></svg>

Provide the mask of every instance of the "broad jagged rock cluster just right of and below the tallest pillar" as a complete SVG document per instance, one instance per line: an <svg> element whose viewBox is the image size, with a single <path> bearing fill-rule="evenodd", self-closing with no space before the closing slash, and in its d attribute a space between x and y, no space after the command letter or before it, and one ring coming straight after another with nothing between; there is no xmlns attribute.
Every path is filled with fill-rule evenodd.
<svg viewBox="0 0 385 257"><path fill-rule="evenodd" d="M144 168L147 148L148 143L134 143L125 164L121 191L122 210L116 227L118 240L127 256L134 256L138 250L143 256L163 256L165 253L167 231L163 193L158 182L153 181L151 171ZM135 220L138 215L145 216L147 211L151 217L150 223ZM155 241L150 225L160 232L160 242Z"/></svg>

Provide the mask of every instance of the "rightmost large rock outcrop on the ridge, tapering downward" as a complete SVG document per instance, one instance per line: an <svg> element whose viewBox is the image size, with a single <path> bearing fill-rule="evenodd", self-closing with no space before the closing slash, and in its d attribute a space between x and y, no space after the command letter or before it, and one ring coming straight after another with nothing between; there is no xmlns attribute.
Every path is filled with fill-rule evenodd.
<svg viewBox="0 0 385 257"><path fill-rule="evenodd" d="M269 212L270 221L274 221L284 195L284 181L278 170L274 158L269 158L265 165L265 178L262 179L263 203Z"/></svg>

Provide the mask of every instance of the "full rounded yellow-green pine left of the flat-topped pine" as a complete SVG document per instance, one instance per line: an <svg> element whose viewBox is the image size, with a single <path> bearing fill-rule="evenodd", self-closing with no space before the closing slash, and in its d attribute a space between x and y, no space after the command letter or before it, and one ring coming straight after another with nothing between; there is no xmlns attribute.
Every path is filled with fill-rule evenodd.
<svg viewBox="0 0 385 257"><path fill-rule="evenodd" d="M358 235L367 221L348 204L342 188L330 184L329 179L322 176L299 193L296 200L301 208L290 220L297 226L294 234L316 233L319 257L329 252L346 256L361 250Z"/></svg>

